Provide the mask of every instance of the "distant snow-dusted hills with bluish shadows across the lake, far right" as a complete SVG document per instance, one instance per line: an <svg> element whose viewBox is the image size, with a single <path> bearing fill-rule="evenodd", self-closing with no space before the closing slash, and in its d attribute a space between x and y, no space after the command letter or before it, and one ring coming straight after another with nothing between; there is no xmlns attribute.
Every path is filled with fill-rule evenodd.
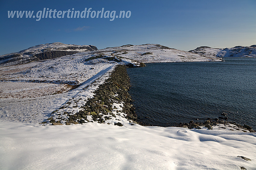
<svg viewBox="0 0 256 170"><path fill-rule="evenodd" d="M216 57L256 57L256 45L252 46L235 46L233 48L211 48L201 46L189 52L194 52L199 55L212 55Z"/></svg>

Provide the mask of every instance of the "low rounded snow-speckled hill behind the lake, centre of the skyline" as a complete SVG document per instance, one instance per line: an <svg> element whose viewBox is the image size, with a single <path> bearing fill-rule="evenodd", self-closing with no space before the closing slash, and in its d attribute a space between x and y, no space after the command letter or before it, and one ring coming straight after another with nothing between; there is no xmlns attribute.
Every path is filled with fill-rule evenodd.
<svg viewBox="0 0 256 170"><path fill-rule="evenodd" d="M201 55L193 52L186 52L161 46L159 44L144 45L124 45L120 47L106 48L98 50L104 54L110 55L114 52L121 58L128 58L143 63L157 62L184 62L184 61L222 61L213 55Z"/></svg>

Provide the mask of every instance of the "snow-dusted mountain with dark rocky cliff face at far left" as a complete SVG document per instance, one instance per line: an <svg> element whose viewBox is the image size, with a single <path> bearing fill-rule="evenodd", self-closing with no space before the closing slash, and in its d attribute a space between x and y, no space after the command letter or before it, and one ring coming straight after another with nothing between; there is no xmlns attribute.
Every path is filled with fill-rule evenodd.
<svg viewBox="0 0 256 170"><path fill-rule="evenodd" d="M0 56L0 66L25 64L31 61L39 61L71 55L77 52L93 51L97 47L92 45L74 45L64 43L48 43L24 49L20 52Z"/></svg>

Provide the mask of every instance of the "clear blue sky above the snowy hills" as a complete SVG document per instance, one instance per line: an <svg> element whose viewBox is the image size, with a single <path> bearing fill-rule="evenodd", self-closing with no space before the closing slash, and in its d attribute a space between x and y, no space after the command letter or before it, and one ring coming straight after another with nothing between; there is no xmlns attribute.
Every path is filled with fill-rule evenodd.
<svg viewBox="0 0 256 170"><path fill-rule="evenodd" d="M8 10L120 10L130 18L8 18ZM157 43L180 50L256 44L256 1L0 1L0 55L38 44L95 45Z"/></svg>

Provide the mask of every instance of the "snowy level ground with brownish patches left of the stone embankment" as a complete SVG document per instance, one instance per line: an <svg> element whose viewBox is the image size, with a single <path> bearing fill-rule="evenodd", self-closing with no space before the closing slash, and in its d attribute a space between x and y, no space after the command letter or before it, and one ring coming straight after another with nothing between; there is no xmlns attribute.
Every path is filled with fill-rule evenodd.
<svg viewBox="0 0 256 170"><path fill-rule="evenodd" d="M0 67L0 120L40 123L73 97L92 97L116 63L96 59L85 64L79 57ZM86 88L99 78L101 82ZM80 86L69 91L71 85Z"/></svg>

